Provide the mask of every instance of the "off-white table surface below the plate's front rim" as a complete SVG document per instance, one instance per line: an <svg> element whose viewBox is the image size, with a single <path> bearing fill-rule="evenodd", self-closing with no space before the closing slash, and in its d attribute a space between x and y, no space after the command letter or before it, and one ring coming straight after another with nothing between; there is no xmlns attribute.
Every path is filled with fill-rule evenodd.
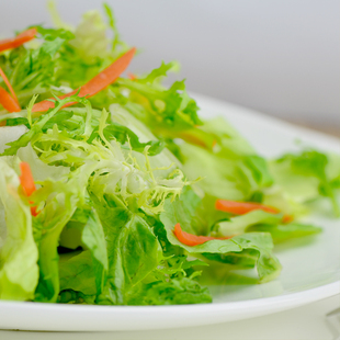
<svg viewBox="0 0 340 340"><path fill-rule="evenodd" d="M336 340L340 316L327 314L340 307L340 295L295 309L219 325L169 330L125 332L34 332L0 330L5 340ZM332 324L332 325L331 325ZM337 330L338 329L338 330Z"/></svg>

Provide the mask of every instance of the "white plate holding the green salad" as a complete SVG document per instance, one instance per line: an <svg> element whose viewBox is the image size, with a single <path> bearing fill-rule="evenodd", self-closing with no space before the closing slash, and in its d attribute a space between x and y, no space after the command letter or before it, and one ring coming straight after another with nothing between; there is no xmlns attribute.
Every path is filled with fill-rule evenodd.
<svg viewBox="0 0 340 340"><path fill-rule="evenodd" d="M340 151L340 140L217 100L194 95L203 116L224 115L267 157L296 149L296 139ZM328 205L325 205L325 214ZM315 215L325 228L275 252L283 271L261 285L213 286L214 303L185 306L83 306L0 302L0 329L104 331L202 326L294 308L340 293L340 220Z"/></svg>

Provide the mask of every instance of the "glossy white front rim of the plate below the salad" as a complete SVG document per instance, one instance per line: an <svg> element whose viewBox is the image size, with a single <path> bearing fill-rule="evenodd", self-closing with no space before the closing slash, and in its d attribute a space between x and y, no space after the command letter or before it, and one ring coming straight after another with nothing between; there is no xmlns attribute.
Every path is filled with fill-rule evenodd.
<svg viewBox="0 0 340 340"><path fill-rule="evenodd" d="M99 305L68 305L46 304L34 302L2 302L0 301L0 330L30 330L30 331L133 331L133 330L157 330L173 329L193 326L206 326L220 322L230 322L253 317L265 316L273 313L284 311L307 305L322 298L340 294L340 281L329 283L319 287L284 294L272 297L254 298L239 302L193 304L193 305L169 305L169 306L99 306ZM243 311L256 313L253 316L245 317ZM39 327L30 324L26 318L19 318L14 324L5 321L5 315L14 314L26 316L36 313ZM123 318L128 317L128 326L112 322L117 313ZM76 322L72 319L76 314ZM155 318L159 315L171 315L168 319ZM190 315L190 319L185 319ZM140 316L143 317L140 319ZM204 318L202 318L204 316ZM53 318L50 318L53 317ZM72 320L70 326L65 320ZM199 321L197 321L199 319ZM53 321L50 321L53 320ZM87 324L89 322L89 324ZM84 326L86 324L86 326ZM152 325L152 326L150 326Z"/></svg>

